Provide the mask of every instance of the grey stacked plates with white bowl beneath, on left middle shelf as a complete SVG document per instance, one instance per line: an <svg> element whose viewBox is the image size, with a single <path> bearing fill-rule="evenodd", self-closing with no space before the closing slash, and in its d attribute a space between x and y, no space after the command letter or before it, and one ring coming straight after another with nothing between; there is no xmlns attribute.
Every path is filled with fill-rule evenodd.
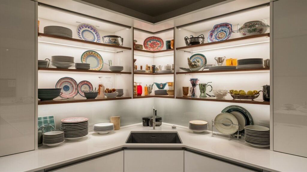
<svg viewBox="0 0 307 172"><path fill-rule="evenodd" d="M51 56L51 64L56 68L68 69L75 65L74 57L70 56Z"/></svg>

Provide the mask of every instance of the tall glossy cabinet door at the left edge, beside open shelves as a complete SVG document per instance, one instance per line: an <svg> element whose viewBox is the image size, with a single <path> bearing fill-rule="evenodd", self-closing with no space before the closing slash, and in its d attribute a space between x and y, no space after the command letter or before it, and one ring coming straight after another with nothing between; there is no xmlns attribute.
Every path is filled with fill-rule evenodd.
<svg viewBox="0 0 307 172"><path fill-rule="evenodd" d="M35 146L35 2L0 1L0 156Z"/></svg>

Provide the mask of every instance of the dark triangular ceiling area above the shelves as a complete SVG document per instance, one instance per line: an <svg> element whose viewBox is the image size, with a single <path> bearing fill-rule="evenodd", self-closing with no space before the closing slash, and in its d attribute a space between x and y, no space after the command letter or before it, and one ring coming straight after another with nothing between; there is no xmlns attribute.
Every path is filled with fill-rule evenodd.
<svg viewBox="0 0 307 172"><path fill-rule="evenodd" d="M141 20L157 23L226 0L82 0Z"/></svg>

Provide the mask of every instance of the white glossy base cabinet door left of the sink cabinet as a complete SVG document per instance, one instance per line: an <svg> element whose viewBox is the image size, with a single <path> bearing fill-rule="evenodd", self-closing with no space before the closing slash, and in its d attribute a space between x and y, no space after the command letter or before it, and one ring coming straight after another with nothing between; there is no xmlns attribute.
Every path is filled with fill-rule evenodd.
<svg viewBox="0 0 307 172"><path fill-rule="evenodd" d="M83 163L68 166L56 172L123 172L124 151L119 151Z"/></svg>

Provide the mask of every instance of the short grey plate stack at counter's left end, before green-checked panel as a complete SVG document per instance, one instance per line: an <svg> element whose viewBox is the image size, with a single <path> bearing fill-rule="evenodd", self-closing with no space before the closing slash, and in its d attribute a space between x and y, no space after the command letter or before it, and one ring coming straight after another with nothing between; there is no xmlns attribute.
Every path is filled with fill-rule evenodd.
<svg viewBox="0 0 307 172"><path fill-rule="evenodd" d="M43 134L43 144L57 146L64 142L64 131L49 131Z"/></svg>

